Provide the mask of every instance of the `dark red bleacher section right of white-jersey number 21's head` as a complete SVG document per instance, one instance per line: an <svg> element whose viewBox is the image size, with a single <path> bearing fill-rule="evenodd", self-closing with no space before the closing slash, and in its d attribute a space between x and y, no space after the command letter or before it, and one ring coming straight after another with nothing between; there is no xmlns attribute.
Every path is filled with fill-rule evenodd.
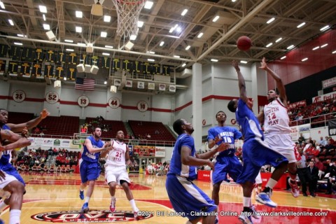
<svg viewBox="0 0 336 224"><path fill-rule="evenodd" d="M129 120L128 123L136 138L140 135L142 139L147 140L176 141L172 133L160 122ZM151 138L147 138L146 134L150 134Z"/></svg>

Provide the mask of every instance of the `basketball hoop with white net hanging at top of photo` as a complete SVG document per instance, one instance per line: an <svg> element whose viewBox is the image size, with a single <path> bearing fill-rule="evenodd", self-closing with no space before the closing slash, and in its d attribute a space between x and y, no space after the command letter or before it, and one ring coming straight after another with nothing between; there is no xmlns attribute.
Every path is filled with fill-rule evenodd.
<svg viewBox="0 0 336 224"><path fill-rule="evenodd" d="M138 20L145 0L112 0L118 14L117 35L130 37L138 34Z"/></svg>

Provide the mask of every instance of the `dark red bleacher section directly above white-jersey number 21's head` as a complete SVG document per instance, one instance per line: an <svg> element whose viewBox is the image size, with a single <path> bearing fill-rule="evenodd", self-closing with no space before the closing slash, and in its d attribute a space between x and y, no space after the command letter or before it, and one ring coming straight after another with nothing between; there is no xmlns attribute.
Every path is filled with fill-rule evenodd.
<svg viewBox="0 0 336 224"><path fill-rule="evenodd" d="M122 130L127 135L126 127L123 123L123 121L120 120L97 120L97 118L86 118L85 123L90 124L93 121L97 121L99 123L99 126L102 127L102 138L115 138L118 131ZM104 125L106 127L104 131ZM87 132L90 132L91 130L87 130Z"/></svg>

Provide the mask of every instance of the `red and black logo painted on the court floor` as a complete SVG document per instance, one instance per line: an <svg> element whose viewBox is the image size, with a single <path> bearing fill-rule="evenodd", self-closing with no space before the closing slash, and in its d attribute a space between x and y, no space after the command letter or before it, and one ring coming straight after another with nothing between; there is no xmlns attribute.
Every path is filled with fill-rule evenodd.
<svg viewBox="0 0 336 224"><path fill-rule="evenodd" d="M34 220L51 223L117 223L152 217L152 213L134 218L132 211L115 211L111 213L109 210L91 210L87 213L83 213L83 211L50 211L31 216Z"/></svg>

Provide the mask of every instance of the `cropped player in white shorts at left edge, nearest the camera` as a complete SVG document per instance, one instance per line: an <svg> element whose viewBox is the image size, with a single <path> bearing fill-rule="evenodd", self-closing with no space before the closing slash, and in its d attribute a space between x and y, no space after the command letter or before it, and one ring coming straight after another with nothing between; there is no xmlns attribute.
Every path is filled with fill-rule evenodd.
<svg viewBox="0 0 336 224"><path fill-rule="evenodd" d="M0 157L3 151L7 151L10 148L21 148L29 146L30 144L31 143L29 139L19 134L15 134L10 130L2 130L0 127ZM0 188L8 191L11 194L9 200L9 223L20 223L22 200L25 187L15 178L15 176L7 174L1 170ZM3 195L1 195L1 197L3 197Z"/></svg>

